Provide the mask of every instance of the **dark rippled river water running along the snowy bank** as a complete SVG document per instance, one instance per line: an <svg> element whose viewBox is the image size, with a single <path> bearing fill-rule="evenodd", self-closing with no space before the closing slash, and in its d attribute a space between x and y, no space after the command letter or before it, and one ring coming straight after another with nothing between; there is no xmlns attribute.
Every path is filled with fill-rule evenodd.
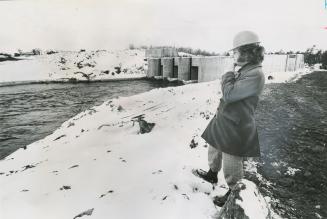
<svg viewBox="0 0 327 219"><path fill-rule="evenodd" d="M167 86L150 80L0 86L0 159L108 99Z"/></svg>

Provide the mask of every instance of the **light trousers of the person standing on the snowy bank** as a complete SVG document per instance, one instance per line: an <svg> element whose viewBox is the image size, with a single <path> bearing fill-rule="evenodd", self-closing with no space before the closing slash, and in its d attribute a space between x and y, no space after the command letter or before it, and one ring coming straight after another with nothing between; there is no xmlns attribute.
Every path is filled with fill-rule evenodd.
<svg viewBox="0 0 327 219"><path fill-rule="evenodd" d="M244 176L243 157L226 154L211 145L208 148L208 163L214 172L219 172L223 166L224 177L230 189Z"/></svg>

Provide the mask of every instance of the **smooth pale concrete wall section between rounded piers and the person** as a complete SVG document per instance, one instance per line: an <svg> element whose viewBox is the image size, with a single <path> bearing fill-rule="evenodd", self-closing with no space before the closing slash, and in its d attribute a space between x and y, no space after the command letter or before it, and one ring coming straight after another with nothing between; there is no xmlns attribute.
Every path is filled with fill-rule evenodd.
<svg viewBox="0 0 327 219"><path fill-rule="evenodd" d="M192 66L198 66L198 82L212 81L221 77L233 67L233 58L229 56L194 57Z"/></svg>

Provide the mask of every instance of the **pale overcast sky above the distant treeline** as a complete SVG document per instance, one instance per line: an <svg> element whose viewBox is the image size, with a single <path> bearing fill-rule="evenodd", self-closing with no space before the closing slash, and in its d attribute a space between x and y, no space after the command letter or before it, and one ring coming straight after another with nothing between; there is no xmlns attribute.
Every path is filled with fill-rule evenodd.
<svg viewBox="0 0 327 219"><path fill-rule="evenodd" d="M0 0L0 52L134 44L222 53L242 30L256 32L266 51L327 50L325 1Z"/></svg>

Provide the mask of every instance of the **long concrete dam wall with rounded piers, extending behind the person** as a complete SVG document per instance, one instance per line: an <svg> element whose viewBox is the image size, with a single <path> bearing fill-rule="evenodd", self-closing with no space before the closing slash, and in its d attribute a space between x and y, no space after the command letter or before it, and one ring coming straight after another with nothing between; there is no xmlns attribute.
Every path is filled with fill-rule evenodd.
<svg viewBox="0 0 327 219"><path fill-rule="evenodd" d="M176 77L173 72L174 66L177 66L179 80L190 80L192 73L192 79L196 80L194 77L197 75L198 82L221 78L226 71L233 67L233 58L229 56L161 58L161 62L160 59L151 58L148 61L149 77L160 75ZM304 67L304 57L302 54L265 55L262 66L266 75L269 75L270 72L296 71Z"/></svg>

